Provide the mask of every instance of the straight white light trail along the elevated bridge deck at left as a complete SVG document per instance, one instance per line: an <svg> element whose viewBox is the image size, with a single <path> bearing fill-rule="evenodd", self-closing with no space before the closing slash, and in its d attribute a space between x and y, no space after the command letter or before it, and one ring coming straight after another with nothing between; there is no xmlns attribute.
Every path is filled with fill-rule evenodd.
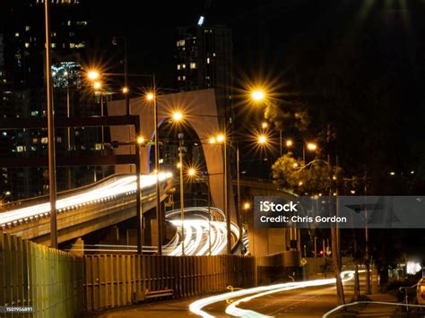
<svg viewBox="0 0 425 318"><path fill-rule="evenodd" d="M169 179L171 173L160 173L158 178L160 181ZM140 185L142 189L155 185L157 176L147 175L141 176ZM69 197L56 201L56 209L58 212L68 211L84 205L92 203L100 203L120 194L132 193L136 190L136 176L119 176L115 181L99 185L93 190L84 191L70 195ZM50 213L50 203L40 203L31 205L26 208L14 209L0 213L0 227L12 225L28 219L37 219L47 216Z"/></svg>

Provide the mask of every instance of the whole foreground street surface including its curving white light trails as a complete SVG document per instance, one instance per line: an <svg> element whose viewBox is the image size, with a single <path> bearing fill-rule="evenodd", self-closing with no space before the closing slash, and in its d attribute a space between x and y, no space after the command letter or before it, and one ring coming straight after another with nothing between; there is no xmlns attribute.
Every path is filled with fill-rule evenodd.
<svg viewBox="0 0 425 318"><path fill-rule="evenodd" d="M346 274L344 280L345 298L350 300L353 295L352 274ZM360 285L361 283L360 280ZM250 289L256 291L236 290L213 296L137 305L93 316L98 318L140 316L153 318L166 313L167 317L243 316L265 318L282 316L285 318L317 318L322 317L337 305L334 279L315 279ZM213 300L216 301L212 302Z"/></svg>

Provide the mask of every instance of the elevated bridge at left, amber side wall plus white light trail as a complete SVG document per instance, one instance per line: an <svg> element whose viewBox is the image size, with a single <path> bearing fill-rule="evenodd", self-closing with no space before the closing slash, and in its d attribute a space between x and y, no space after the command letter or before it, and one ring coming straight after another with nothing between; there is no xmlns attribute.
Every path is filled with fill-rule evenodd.
<svg viewBox="0 0 425 318"><path fill-rule="evenodd" d="M169 176L160 176L168 179ZM155 207L155 176L142 176L143 212ZM161 182L160 200L171 184ZM135 217L135 176L115 175L99 183L59 193L56 202L58 242L84 236ZM7 204L0 213L0 229L48 245L50 218L48 197Z"/></svg>

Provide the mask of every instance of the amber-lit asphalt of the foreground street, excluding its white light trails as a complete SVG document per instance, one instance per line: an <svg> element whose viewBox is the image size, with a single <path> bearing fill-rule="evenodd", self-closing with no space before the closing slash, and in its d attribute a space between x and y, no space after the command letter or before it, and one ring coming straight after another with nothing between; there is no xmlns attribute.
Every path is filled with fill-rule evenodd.
<svg viewBox="0 0 425 318"><path fill-rule="evenodd" d="M326 279L327 280L327 279ZM360 281L361 284L361 281ZM344 282L346 299L349 300L353 294L353 279ZM258 293L256 293L258 295ZM189 310L189 306L204 297L191 297L183 300L163 301L147 305L137 305L126 310L110 311L105 314L95 315L98 318L123 318L123 317L200 317ZM226 314L226 308L234 304L240 297L224 299L222 301L206 305L203 310L204 317L231 317ZM309 288L293 288L257 297L247 303L239 304L239 308L248 310L244 317L299 317L317 318L321 317L336 305L335 288L333 285L323 285Z"/></svg>

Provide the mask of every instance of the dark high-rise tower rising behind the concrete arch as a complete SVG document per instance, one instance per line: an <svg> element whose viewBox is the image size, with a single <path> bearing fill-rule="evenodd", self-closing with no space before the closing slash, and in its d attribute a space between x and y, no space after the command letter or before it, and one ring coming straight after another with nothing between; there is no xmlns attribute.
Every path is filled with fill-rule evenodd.
<svg viewBox="0 0 425 318"><path fill-rule="evenodd" d="M177 82L182 91L216 91L220 116L231 117L232 39L225 26L197 25L178 29Z"/></svg>

